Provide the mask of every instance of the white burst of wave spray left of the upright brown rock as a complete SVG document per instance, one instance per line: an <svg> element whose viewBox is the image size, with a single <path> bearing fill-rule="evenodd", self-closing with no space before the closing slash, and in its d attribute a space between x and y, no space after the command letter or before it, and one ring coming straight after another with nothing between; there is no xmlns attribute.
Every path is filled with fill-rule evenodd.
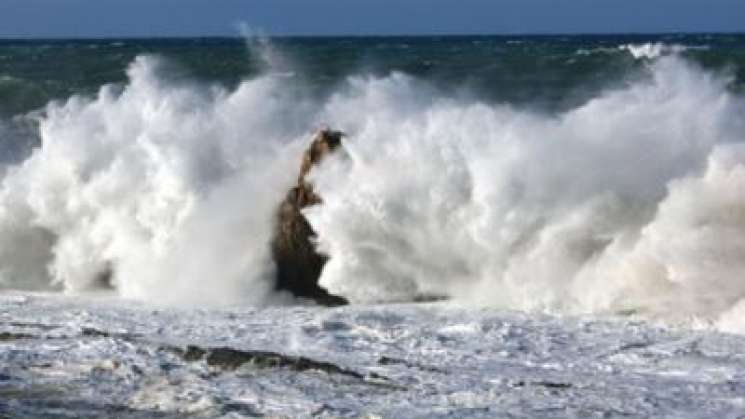
<svg viewBox="0 0 745 419"><path fill-rule="evenodd" d="M312 121L271 76L226 92L159 67L141 57L122 92L48 107L0 191L3 284L75 292L112 266L127 297L265 298L271 210L308 135L293 127Z"/></svg>

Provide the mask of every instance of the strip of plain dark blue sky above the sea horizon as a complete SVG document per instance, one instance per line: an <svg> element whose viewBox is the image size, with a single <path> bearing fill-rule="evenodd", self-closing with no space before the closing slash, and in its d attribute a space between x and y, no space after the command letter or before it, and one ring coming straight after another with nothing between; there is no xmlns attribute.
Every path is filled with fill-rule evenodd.
<svg viewBox="0 0 745 419"><path fill-rule="evenodd" d="M0 37L745 31L745 0L0 0Z"/></svg>

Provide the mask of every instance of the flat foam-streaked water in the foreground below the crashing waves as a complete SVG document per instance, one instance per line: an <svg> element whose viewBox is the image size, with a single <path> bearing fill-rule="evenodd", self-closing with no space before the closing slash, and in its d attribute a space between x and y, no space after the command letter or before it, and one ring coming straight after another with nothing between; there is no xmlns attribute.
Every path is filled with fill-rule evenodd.
<svg viewBox="0 0 745 419"><path fill-rule="evenodd" d="M0 414L11 417L702 418L742 410L742 336L635 318L442 303L176 309L4 291L0 333ZM215 348L223 361L198 356ZM239 362L262 353L325 370Z"/></svg>

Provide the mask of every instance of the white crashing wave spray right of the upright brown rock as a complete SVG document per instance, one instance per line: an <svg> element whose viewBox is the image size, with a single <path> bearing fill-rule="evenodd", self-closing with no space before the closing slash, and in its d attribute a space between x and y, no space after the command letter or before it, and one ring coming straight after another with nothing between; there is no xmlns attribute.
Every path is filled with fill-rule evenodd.
<svg viewBox="0 0 745 419"><path fill-rule="evenodd" d="M726 312L745 297L743 105L679 58L651 68L558 117L356 81L327 107L351 158L317 173L325 203L307 211L322 284L354 301Z"/></svg>

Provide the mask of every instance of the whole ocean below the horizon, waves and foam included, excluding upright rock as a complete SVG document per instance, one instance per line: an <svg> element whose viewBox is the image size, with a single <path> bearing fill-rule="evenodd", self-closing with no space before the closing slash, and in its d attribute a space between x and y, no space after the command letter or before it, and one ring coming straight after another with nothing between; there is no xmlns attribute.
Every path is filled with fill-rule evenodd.
<svg viewBox="0 0 745 419"><path fill-rule="evenodd" d="M744 82L730 34L0 41L0 416L741 415ZM325 126L335 308L269 245Z"/></svg>

